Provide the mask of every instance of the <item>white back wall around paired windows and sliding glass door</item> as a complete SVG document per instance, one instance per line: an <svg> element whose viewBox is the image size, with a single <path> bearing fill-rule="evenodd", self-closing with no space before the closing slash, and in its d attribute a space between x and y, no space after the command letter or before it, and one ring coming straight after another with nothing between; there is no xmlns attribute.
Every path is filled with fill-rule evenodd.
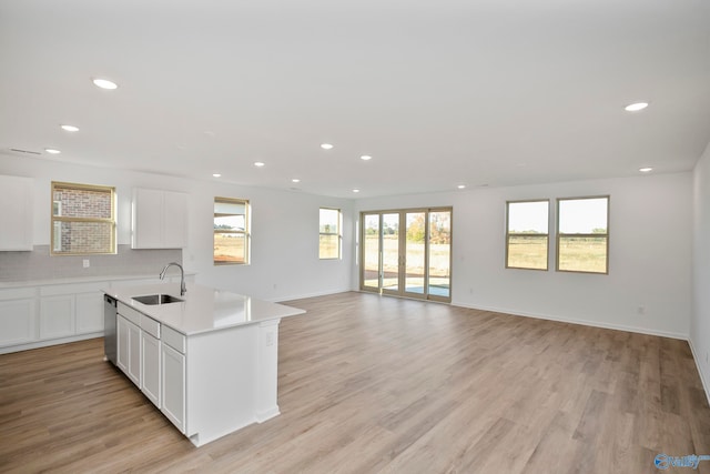
<svg viewBox="0 0 710 474"><path fill-rule="evenodd" d="M691 173L658 174L364 199L355 206L359 213L453 205L453 304L686 339L691 186ZM506 201L601 194L611 206L608 275L556 272L554 258L548 272L505 269Z"/></svg>

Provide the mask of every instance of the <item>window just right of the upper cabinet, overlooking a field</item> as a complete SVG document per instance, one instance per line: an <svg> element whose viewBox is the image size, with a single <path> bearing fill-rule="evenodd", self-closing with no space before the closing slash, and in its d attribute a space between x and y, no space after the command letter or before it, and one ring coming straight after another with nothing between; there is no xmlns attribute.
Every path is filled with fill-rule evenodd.
<svg viewBox="0 0 710 474"><path fill-rule="evenodd" d="M248 201L214 199L214 264L247 264L250 255Z"/></svg>

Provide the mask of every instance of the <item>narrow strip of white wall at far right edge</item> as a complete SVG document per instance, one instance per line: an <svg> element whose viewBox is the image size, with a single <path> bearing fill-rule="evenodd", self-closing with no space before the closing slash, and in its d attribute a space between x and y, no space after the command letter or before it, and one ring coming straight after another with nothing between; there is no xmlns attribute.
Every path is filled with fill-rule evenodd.
<svg viewBox="0 0 710 474"><path fill-rule="evenodd" d="M690 346L710 401L710 144L696 165L693 179L693 307Z"/></svg>

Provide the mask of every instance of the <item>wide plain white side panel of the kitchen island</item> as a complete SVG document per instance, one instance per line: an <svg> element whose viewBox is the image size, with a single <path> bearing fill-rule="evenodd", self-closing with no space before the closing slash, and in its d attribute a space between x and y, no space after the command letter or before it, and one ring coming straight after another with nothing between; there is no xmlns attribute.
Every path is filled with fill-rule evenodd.
<svg viewBox="0 0 710 474"><path fill-rule="evenodd" d="M187 336L186 417L201 446L256 421L258 326Z"/></svg>

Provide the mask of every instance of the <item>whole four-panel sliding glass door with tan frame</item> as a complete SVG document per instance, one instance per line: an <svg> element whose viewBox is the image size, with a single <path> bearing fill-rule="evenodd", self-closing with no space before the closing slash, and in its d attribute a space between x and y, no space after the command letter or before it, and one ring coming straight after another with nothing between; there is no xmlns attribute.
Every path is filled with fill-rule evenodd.
<svg viewBox="0 0 710 474"><path fill-rule="evenodd" d="M361 229L361 289L450 302L450 208L363 212Z"/></svg>

